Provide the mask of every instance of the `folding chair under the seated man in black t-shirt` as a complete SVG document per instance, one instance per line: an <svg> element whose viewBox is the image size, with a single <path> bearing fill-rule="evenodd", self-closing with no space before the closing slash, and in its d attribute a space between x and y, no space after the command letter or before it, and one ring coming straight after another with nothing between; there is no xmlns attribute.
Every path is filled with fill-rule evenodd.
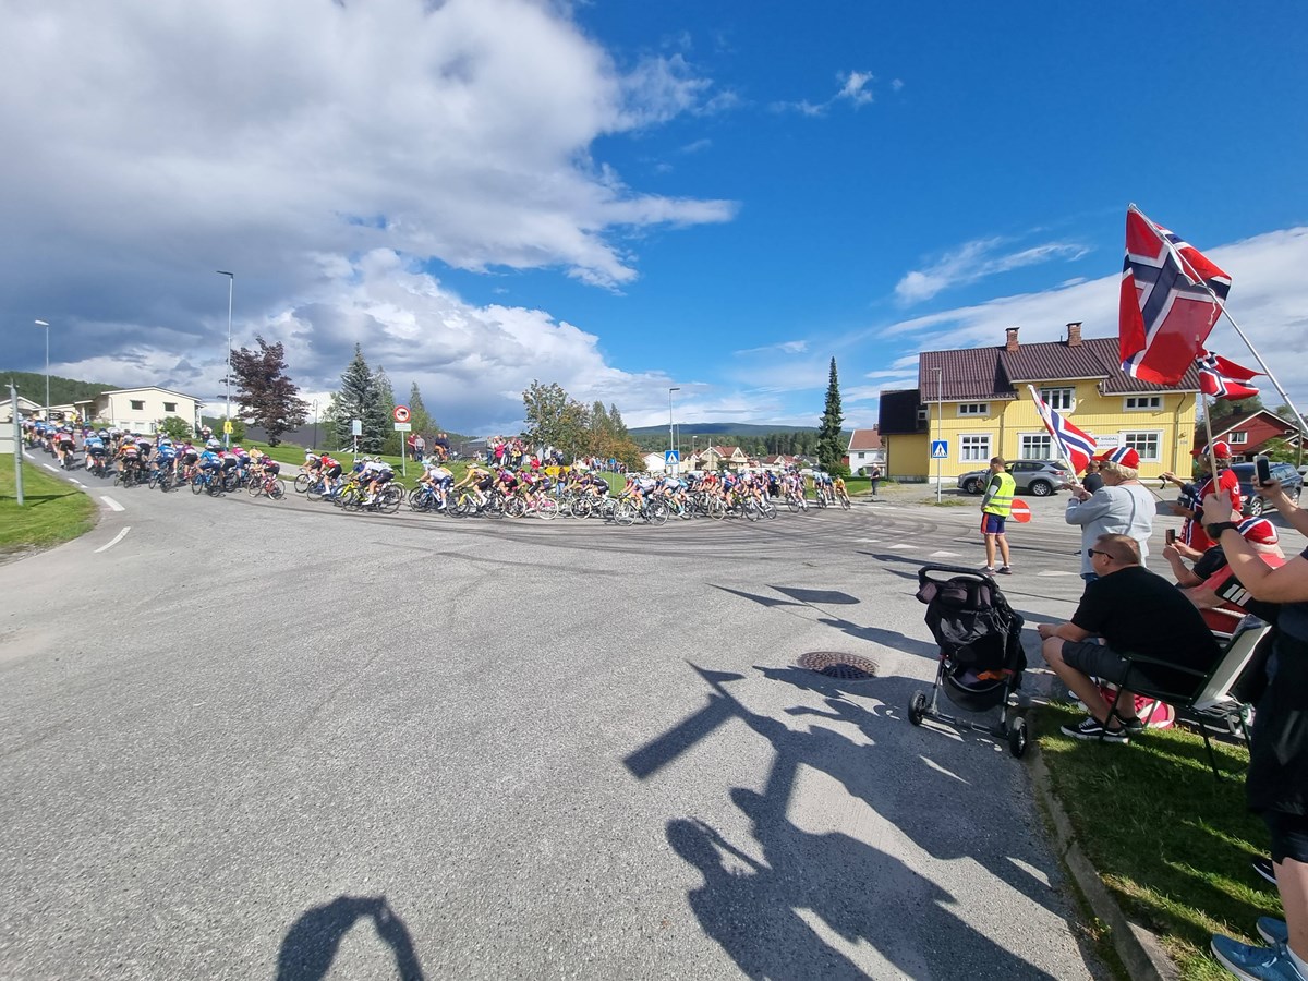
<svg viewBox="0 0 1308 981"><path fill-rule="evenodd" d="M1108 717L1121 721L1117 713L1117 702L1122 697L1122 689L1130 689L1137 695L1151 700L1151 702L1165 701L1176 709L1176 718L1196 725L1199 735L1203 736L1203 747L1209 753L1209 766L1213 776L1222 780L1222 770L1218 769L1216 755L1213 752L1210 739L1210 726L1224 726L1226 730L1244 740L1249 746L1249 706L1243 704L1231 693L1231 688L1244 674L1253 658L1258 645L1271 633L1271 625L1256 616L1244 617L1231 640L1227 641L1222 657L1209 671L1181 667L1159 658L1147 658L1143 654L1125 654L1126 681L1118 687L1113 704L1109 706ZM1156 664L1196 679L1197 688L1189 693L1168 692L1163 688L1146 684L1131 684L1138 680L1133 678L1131 668L1146 664ZM1152 705L1150 705L1152 712ZM1147 718L1147 714L1146 714Z"/></svg>

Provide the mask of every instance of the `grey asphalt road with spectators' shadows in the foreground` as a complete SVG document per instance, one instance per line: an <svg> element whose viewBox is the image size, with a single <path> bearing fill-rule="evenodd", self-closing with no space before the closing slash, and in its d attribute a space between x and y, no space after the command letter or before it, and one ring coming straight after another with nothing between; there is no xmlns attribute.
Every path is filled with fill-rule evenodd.
<svg viewBox="0 0 1308 981"><path fill-rule="evenodd" d="M623 530L106 487L0 566L3 977L1101 976L1023 765L905 718L916 570L980 561L973 502ZM1033 505L1003 586L1066 617L1079 542Z"/></svg>

